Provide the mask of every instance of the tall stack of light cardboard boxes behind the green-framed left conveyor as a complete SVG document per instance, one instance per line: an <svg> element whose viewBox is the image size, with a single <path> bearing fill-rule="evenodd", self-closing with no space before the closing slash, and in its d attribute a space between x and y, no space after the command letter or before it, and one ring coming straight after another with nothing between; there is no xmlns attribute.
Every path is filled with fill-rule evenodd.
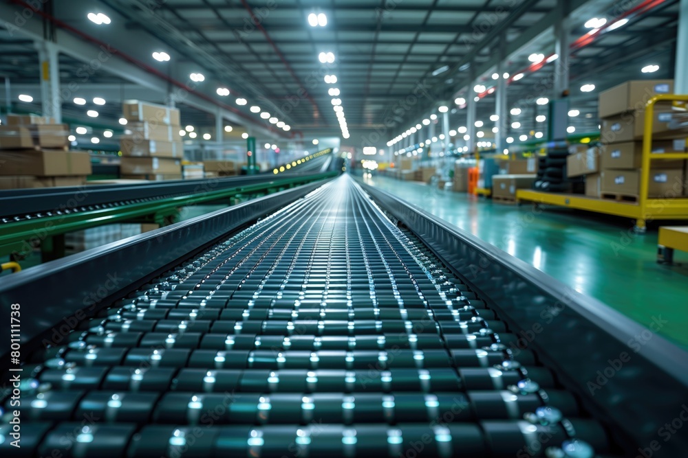
<svg viewBox="0 0 688 458"><path fill-rule="evenodd" d="M125 100L125 134L120 139L120 176L133 180L180 180L184 144L177 108Z"/></svg>

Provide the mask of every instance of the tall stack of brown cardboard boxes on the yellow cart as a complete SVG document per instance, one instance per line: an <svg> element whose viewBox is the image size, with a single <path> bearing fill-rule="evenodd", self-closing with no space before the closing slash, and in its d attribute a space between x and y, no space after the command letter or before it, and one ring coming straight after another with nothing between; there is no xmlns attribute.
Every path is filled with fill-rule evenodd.
<svg viewBox="0 0 688 458"><path fill-rule="evenodd" d="M628 81L599 96L601 146L599 174L588 175L590 196L638 202L640 198L645 104L654 95L674 92L673 80ZM685 152L688 130L673 129L676 116L671 102L654 106L651 152ZM649 171L648 198L685 195L685 161L653 160Z"/></svg>

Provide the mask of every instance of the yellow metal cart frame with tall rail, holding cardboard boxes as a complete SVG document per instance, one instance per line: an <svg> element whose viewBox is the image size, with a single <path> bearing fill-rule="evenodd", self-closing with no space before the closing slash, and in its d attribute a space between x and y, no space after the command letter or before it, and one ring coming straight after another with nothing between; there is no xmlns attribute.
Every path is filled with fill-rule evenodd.
<svg viewBox="0 0 688 458"><path fill-rule="evenodd" d="M636 231L644 232L648 221L688 220L688 196L674 198L649 198L649 175L652 161L671 159L688 160L687 152L652 153L652 120L657 102L687 102L688 95L655 95L645 106L645 135L643 136L643 159L641 187L638 202L618 202L601 198L585 197L580 194L555 194L534 190L518 190L517 202L528 201L543 205L559 205L597 213L623 216L635 220ZM681 183L685 186L685 183ZM680 196L682 190L678 190Z"/></svg>

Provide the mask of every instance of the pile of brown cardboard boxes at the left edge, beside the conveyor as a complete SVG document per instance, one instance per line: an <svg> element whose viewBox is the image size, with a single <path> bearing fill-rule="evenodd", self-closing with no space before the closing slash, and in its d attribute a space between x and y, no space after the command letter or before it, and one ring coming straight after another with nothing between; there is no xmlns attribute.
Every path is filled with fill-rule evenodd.
<svg viewBox="0 0 688 458"><path fill-rule="evenodd" d="M53 119L8 115L0 126L0 190L83 185L91 158L69 151L67 137L67 125Z"/></svg>

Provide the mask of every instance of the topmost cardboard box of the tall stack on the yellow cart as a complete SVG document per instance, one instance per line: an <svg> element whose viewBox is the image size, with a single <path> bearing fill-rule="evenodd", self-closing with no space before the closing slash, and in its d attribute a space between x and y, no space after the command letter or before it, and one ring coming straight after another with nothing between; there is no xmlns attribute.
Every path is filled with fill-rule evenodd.
<svg viewBox="0 0 688 458"><path fill-rule="evenodd" d="M674 80L627 81L600 93L599 115L603 118L625 111L644 110L647 101L655 95L673 93Z"/></svg>

